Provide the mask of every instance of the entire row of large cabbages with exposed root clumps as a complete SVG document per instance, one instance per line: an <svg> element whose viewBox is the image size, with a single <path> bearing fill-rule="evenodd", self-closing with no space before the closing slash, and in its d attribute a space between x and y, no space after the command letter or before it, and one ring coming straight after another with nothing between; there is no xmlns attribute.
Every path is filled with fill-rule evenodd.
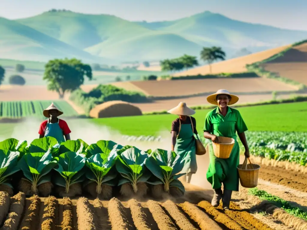
<svg viewBox="0 0 307 230"><path fill-rule="evenodd" d="M83 140L58 144L53 137L35 139L31 144L10 138L0 142L0 190L11 194L62 197L81 195L109 199L116 193L143 196L148 189L155 197L163 193L183 195L178 180L184 162L174 151L142 151L110 140L88 145Z"/></svg>

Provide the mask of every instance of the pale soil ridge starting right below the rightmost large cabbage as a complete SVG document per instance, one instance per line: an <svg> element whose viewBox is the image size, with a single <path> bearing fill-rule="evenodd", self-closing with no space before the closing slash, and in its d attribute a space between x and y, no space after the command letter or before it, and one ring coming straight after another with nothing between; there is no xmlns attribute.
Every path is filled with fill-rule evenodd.
<svg viewBox="0 0 307 230"><path fill-rule="evenodd" d="M185 217L185 215L183 213L181 213L178 206L173 201L165 201L164 203L162 203L162 206L169 213L169 215L175 220L176 224L178 225L178 227L180 229L183 229L183 230L197 230L198 229L191 223L190 220L188 220ZM183 210L185 211L185 213L187 213L185 209L183 209ZM192 218L192 220L194 220L194 219ZM195 222L200 225L199 222L197 222L197 221L195 221ZM200 229L208 229L208 228L202 228L202 226L200 226ZM210 228L210 229L212 229L212 228ZM213 229L215 229L215 228L213 228ZM220 229L220 228L218 228L218 229Z"/></svg>

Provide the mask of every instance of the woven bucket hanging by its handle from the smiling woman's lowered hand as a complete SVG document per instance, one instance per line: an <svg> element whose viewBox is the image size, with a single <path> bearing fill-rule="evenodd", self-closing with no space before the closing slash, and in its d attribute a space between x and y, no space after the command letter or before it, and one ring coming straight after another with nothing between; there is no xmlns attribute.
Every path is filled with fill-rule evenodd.
<svg viewBox="0 0 307 230"><path fill-rule="evenodd" d="M249 161L249 164L247 164L247 159ZM249 158L245 158L243 164L239 164L237 169L239 171L239 178L242 187L244 188L257 187L260 165L252 164Z"/></svg>

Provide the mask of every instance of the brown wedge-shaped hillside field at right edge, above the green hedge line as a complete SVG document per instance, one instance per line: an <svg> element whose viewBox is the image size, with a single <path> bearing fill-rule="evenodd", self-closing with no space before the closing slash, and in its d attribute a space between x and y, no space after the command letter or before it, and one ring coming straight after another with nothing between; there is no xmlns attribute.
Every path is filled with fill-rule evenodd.
<svg viewBox="0 0 307 230"><path fill-rule="evenodd" d="M283 56L263 64L265 70L307 85L307 44L288 50Z"/></svg>

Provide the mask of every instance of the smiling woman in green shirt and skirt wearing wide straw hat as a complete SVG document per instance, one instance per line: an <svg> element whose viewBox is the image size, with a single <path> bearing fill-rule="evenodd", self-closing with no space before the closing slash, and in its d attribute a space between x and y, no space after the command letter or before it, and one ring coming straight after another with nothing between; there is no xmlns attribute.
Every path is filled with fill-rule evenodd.
<svg viewBox="0 0 307 230"><path fill-rule="evenodd" d="M207 101L213 105L218 105L207 113L204 124L204 137L219 142L219 136L231 137L235 139L235 144L228 159L217 158L214 155L212 144L210 144L209 157L210 164L207 171L207 180L212 184L214 195L211 204L219 206L220 200L223 202L223 209L229 209L232 191L239 191L239 144L237 142L236 131L245 148L244 155L249 157L249 148L244 132L247 131L243 118L238 110L230 108L239 101L239 98L230 94L227 90L218 90L215 94L209 95ZM222 192L221 186L224 186Z"/></svg>

